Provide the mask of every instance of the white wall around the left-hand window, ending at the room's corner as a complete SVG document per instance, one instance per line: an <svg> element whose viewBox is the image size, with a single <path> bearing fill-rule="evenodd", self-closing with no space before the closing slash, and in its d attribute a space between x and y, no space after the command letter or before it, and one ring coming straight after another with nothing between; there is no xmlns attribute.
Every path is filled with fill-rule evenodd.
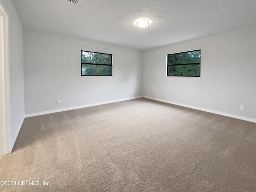
<svg viewBox="0 0 256 192"><path fill-rule="evenodd" d="M81 50L113 54L114 76L81 77ZM25 114L142 95L140 50L24 29L24 61Z"/></svg>

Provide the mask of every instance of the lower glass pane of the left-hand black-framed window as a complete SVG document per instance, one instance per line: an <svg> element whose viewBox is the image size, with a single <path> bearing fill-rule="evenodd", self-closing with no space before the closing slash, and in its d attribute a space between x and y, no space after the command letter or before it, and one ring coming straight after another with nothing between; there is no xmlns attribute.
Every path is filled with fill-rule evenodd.
<svg viewBox="0 0 256 192"><path fill-rule="evenodd" d="M82 76L111 76L112 66L82 64Z"/></svg>

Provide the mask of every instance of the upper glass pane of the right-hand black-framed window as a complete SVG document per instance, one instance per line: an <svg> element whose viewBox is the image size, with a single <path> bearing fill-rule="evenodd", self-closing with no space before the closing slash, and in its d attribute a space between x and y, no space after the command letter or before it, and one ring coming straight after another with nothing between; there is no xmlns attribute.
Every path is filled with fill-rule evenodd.
<svg viewBox="0 0 256 192"><path fill-rule="evenodd" d="M200 63L201 50L168 55L168 65Z"/></svg>

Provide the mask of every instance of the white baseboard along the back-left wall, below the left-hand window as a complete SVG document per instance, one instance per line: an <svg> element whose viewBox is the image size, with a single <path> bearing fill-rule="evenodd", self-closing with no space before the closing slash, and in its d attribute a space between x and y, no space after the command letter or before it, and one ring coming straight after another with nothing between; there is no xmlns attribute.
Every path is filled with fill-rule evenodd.
<svg viewBox="0 0 256 192"><path fill-rule="evenodd" d="M115 103L115 102L126 101L126 100L137 99L137 98L142 98L142 96L118 99L118 100L112 100L112 101L106 101L106 102L100 102L100 103L92 103L92 104L87 104L87 105L74 106L74 107L68 107L68 108L62 108L62 109L56 109L56 110L50 110L50 111L43 111L43 112L38 112L38 113L31 113L31 114L26 114L25 118L39 116L39 115L46 115L46 114L51 114L51 113L57 113L57 112L62 112L62 111L68 111L68 110L73 110L73 109L92 107L92 106L103 105L103 104L108 104L108 103Z"/></svg>

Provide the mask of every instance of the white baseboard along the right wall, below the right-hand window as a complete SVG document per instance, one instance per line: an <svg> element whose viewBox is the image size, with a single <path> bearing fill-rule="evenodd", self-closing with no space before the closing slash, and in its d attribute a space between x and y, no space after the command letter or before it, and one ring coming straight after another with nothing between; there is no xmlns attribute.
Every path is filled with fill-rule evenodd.
<svg viewBox="0 0 256 192"><path fill-rule="evenodd" d="M232 117L232 118L236 118L236 119L240 119L240 120L245 120L245 121L250 121L250 122L256 123L256 119L253 119L253 118L247 118L247 117L243 117L243 116L238 116L238 115L234 115L234 114L228 114L228 113L224 113L224 112L220 112L220 111L215 111L215 110L195 107L195 106L191 106L191 105L171 102L171 101L157 99L157 98L152 98L152 97L148 97L148 96L143 96L143 97L144 98L148 98L148 99L152 99L152 100L156 100L156 101L161 101L161 102L165 102L165 103L170 103L170 104L182 106L182 107L192 108L192 109L196 109L196 110L200 110L200 111L210 112L210 113L214 113L214 114L218 114L218 115L223 115L223 116L227 116L227 117Z"/></svg>

